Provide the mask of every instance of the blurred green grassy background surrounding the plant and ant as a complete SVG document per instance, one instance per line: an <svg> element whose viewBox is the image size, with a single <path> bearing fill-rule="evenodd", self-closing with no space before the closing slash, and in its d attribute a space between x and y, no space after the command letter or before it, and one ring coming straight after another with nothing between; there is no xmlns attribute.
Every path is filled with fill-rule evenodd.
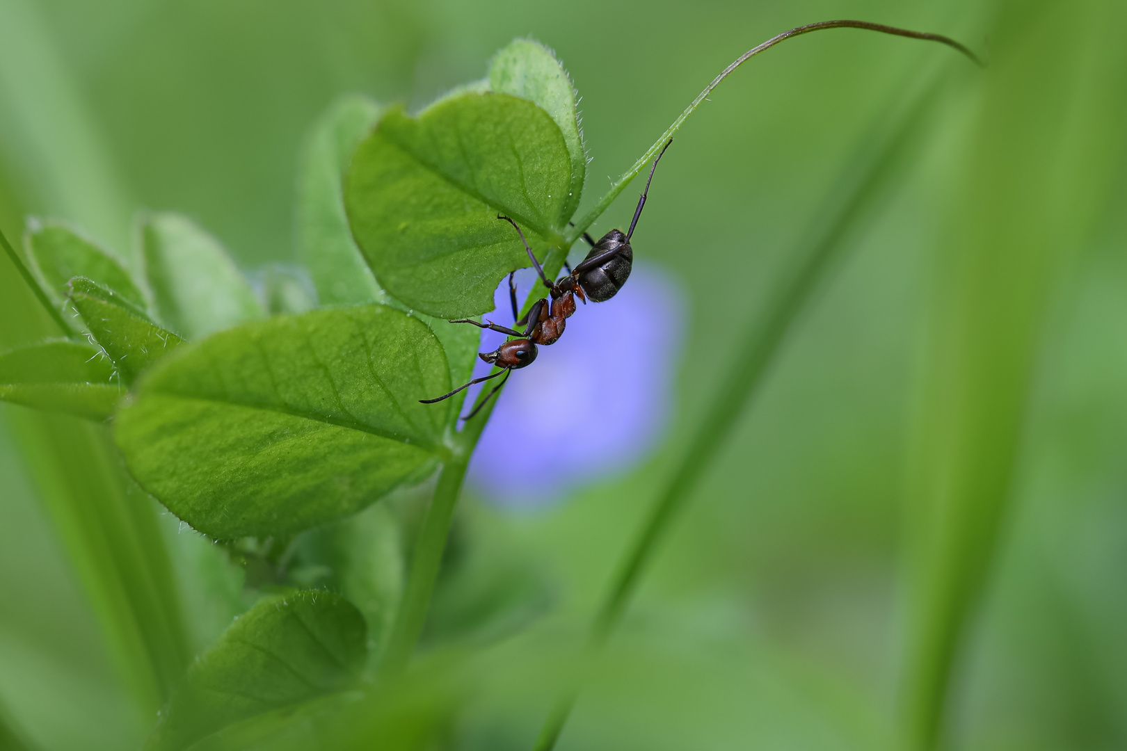
<svg viewBox="0 0 1127 751"><path fill-rule="evenodd" d="M0 0L0 223L18 238L26 214L68 218L124 251L135 208L175 209L245 268L291 261L299 150L336 96L418 108L526 35L583 97L586 207L739 53L829 18L988 38L992 65L819 34L749 62L689 122L635 242L687 302L677 417L642 466L551 509L465 500L553 604L476 654L460 742L531 743L556 660L745 323L887 102L939 66L923 147L716 457L561 748L895 748L944 618L966 626L946 744L1127 748L1117 3ZM628 220L627 195L596 234ZM3 348L50 332L7 261L0 316ZM85 570L99 554L76 552L89 462L115 459L97 437L68 448L69 419L0 414L0 725L35 748L135 748L152 708L115 667L128 647ZM174 560L190 555L161 522Z"/></svg>

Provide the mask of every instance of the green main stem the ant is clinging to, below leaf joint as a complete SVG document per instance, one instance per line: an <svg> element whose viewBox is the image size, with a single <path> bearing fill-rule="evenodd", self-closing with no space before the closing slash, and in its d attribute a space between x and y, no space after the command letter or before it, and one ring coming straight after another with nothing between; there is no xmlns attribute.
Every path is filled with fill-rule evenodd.
<svg viewBox="0 0 1127 751"><path fill-rule="evenodd" d="M567 248L550 248L548 257L544 259L544 274L554 277L564 267L566 258ZM541 294L541 289L534 287L525 301L525 309L532 305ZM482 388L474 406L488 393L488 388ZM454 508L458 506L462 482L465 480L465 470L499 396L498 392L497 396L489 404L486 404L472 420L467 421L462 431L454 439L450 458L443 464L438 484L431 499L431 506L423 520L423 529L419 531L415 545L415 554L411 557L411 567L407 575L407 587L400 601L399 613L396 615L391 636L383 653L381 671L385 674L398 673L407 667L423 633L423 627L426 625L431 597L438 578L438 570L442 567L442 555L446 549L450 524L454 517Z"/></svg>

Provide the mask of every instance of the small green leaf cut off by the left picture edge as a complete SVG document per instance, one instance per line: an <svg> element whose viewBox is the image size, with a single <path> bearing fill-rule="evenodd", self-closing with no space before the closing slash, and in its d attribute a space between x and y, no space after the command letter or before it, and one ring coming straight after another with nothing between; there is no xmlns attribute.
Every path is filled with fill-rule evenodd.
<svg viewBox="0 0 1127 751"><path fill-rule="evenodd" d="M95 347L45 341L0 355L0 400L105 420L122 395L114 368Z"/></svg>

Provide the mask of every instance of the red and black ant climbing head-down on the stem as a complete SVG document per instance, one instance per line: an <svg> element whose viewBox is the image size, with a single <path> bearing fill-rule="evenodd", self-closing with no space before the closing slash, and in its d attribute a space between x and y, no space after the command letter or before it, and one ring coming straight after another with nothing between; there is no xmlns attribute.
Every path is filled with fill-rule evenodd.
<svg viewBox="0 0 1127 751"><path fill-rule="evenodd" d="M548 287L551 302L549 303L547 298L541 297L532 304L527 313L517 319L520 313L516 306L516 285L513 284L515 269L509 271L508 298L513 305L513 319L516 321L515 325L525 327L523 332L499 325L492 321L487 323L471 321L470 319L451 321L451 323L470 323L479 329L490 329L508 334L509 337L516 337L515 339L509 339L492 352L478 352L478 357L482 360L490 365L496 365L502 369L480 378L473 378L449 394L443 394L437 399L420 399L420 402L424 404L434 404L444 399L450 399L458 392L469 388L476 383L489 381L505 374L505 377L499 384L494 386L489 395L481 400L473 408L473 411L462 418L463 420L472 419L492 399L492 395L500 391L500 387L505 385L505 381L508 381L508 376L513 370L532 365L533 360L536 359L538 345L547 347L559 340L564 334L567 319L575 313L576 295L578 295L584 304L587 303L587 299L594 303L602 303L613 297L622 288L622 285L630 277L630 269L633 265L633 249L630 247L630 238L633 236L635 227L638 225L638 217L641 216L641 209L646 206L646 196L649 194L649 184L654 180L654 171L657 170L657 163L662 161L662 157L671 143L673 143L673 138L665 142L665 146L662 147L657 159L654 160L654 166L649 168L646 189L642 190L641 197L638 199L638 208L635 209L633 220L630 222L630 230L625 234L622 234L621 230L611 230L598 242L595 242L588 233L584 232L583 239L591 245L591 252L587 253L587 257L583 261L576 265L575 269L569 267L565 261L564 266L567 268L568 275L554 284L549 281L548 277L544 276L544 269L532 253L532 248L529 247L529 241L524 239L524 233L521 232L521 227L517 226L516 222L508 216L497 215L498 220L505 220L512 224L513 229L521 236L521 242L524 243L524 249L527 251L532 265L536 268L540 280Z"/></svg>

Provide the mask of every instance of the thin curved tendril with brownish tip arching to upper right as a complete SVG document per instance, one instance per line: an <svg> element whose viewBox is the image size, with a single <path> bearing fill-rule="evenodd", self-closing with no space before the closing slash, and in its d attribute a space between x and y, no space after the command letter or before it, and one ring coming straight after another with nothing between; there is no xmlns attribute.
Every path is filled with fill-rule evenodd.
<svg viewBox="0 0 1127 751"><path fill-rule="evenodd" d="M859 28L868 32L891 34L894 36L906 36L913 39L939 42L940 44L946 44L949 47L958 50L967 57L969 57L971 61L974 61L975 64L979 66L983 65L983 61L975 53L970 52L970 50L968 50L959 42L956 42L955 39L948 36L943 36L942 34L925 34L923 32L912 32L908 29L896 28L895 26L885 26L884 24L871 24L869 21L854 21L854 20L819 21L817 24L807 24L806 26L798 26L796 28L783 32L782 34L775 35L770 39L767 39L766 42L763 42L762 44L752 47L751 50L742 54L739 57L736 57L736 60L733 61L730 65L720 71L720 74L717 75L715 79L712 79L711 83L704 87L704 90L701 91L687 107L685 107L685 110L677 116L677 119L673 120L673 125L667 127L665 129L665 133L663 133L662 136L654 142L654 145L650 146L645 154L638 158L638 161L633 163L633 167L627 170L625 175L619 178L619 181L611 186L611 189L606 191L606 195L600 198L598 202L594 206L592 206L591 211L583 215L583 218L580 218L573 226L569 227L568 232L565 234L565 238L567 238L569 243L575 242L580 236L583 236L583 233L587 231L587 229L595 222L595 220L597 220L603 214L603 212L605 212L610 207L612 203L614 203L614 199L619 197L619 195L625 189L628 185L630 185L630 181L633 180L636 177L638 177L638 173L641 172L644 169L646 169L649 162L657 157L658 152L662 150L662 146L664 146L665 143L669 138L672 138L677 131L681 129L681 126L684 125L685 120L689 119L690 115L696 111L696 108L700 107L701 104L708 98L708 95L712 93L712 90L716 87L720 86L724 79L731 75L731 73L735 72L737 68L739 68L745 62L747 62L755 55L760 54L761 52L766 52L771 47L782 42L786 42L787 39L793 38L796 36L801 36L804 34L810 34L811 32L823 32L832 28Z"/></svg>

